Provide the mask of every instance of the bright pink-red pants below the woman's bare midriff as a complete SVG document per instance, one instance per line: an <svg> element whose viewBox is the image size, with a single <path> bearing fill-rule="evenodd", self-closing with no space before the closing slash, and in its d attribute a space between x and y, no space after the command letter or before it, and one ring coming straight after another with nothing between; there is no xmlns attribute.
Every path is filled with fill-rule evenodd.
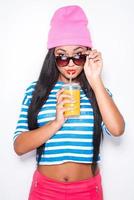
<svg viewBox="0 0 134 200"><path fill-rule="evenodd" d="M61 182L42 175L33 175L29 200L103 200L101 176L74 182Z"/></svg>

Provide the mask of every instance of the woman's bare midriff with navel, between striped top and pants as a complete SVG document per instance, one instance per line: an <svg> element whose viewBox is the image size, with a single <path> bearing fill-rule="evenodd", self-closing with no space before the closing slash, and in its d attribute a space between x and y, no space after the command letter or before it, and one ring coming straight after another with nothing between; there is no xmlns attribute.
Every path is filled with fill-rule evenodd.
<svg viewBox="0 0 134 200"><path fill-rule="evenodd" d="M39 165L37 169L42 175L62 182L80 181L93 177L91 164L85 163L67 162L58 165Z"/></svg>

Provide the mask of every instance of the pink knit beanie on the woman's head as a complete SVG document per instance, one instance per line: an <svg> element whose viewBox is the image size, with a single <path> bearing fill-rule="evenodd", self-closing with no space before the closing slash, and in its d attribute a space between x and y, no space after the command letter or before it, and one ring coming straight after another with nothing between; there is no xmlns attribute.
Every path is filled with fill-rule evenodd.
<svg viewBox="0 0 134 200"><path fill-rule="evenodd" d="M51 19L47 48L62 45L92 47L87 17L79 6L59 8Z"/></svg>

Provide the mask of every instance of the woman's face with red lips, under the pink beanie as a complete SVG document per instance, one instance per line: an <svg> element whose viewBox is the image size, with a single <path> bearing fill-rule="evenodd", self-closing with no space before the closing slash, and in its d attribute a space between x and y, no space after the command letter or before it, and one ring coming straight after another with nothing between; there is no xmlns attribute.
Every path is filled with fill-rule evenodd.
<svg viewBox="0 0 134 200"><path fill-rule="evenodd" d="M86 51L87 47L84 46L59 46L55 48L55 57L58 56L59 59L56 62L60 72L59 81L68 82L71 76L72 80L77 78L83 70L83 64L77 65L72 59L70 59L68 63L65 60L67 57L74 57L77 60L80 55L85 55Z"/></svg>

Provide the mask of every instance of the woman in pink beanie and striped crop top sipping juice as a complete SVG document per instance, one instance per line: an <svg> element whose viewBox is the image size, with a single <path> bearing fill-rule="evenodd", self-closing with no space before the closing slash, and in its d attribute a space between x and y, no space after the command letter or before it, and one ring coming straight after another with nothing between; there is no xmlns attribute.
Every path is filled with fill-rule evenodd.
<svg viewBox="0 0 134 200"><path fill-rule="evenodd" d="M38 81L26 90L14 135L18 155L37 149L29 200L103 199L97 164L102 132L120 136L125 125L103 85L102 67L83 10L58 9L51 20L48 54ZM64 117L64 104L73 102L62 89L70 77L81 86L77 118Z"/></svg>

